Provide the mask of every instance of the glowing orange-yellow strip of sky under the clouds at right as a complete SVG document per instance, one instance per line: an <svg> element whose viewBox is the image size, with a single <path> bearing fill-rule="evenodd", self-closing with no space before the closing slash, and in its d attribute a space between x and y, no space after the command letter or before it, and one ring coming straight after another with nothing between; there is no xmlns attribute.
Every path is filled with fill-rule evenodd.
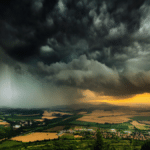
<svg viewBox="0 0 150 150"><path fill-rule="evenodd" d="M115 105L150 105L150 94L143 93L137 94L133 97L126 99L115 99L111 96L97 95L90 90L83 91L84 98L80 99L81 102L90 102L90 103L101 103L106 102Z"/></svg>

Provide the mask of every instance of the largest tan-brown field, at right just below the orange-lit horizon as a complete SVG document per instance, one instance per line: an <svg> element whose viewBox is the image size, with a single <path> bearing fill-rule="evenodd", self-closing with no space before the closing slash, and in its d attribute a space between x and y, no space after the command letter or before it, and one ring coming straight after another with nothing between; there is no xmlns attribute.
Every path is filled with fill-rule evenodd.
<svg viewBox="0 0 150 150"><path fill-rule="evenodd" d="M100 124L110 123L117 124L128 122L130 118L134 116L149 116L150 112L136 112L129 110L113 110L113 111L104 111L104 110L94 110L91 114L84 114L83 117L77 119L78 121L85 122L95 122ZM150 122L149 122L150 124ZM143 126L143 125L142 125ZM140 128L143 128L143 127ZM134 126L130 126L130 129L133 129ZM145 128L145 127L144 127Z"/></svg>

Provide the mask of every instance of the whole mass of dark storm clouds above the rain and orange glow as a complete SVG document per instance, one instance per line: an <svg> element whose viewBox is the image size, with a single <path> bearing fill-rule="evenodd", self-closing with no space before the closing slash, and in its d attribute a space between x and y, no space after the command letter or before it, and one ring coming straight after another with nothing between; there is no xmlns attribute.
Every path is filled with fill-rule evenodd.
<svg viewBox="0 0 150 150"><path fill-rule="evenodd" d="M150 92L149 10L143 0L2 0L0 46L59 86L112 96Z"/></svg>

